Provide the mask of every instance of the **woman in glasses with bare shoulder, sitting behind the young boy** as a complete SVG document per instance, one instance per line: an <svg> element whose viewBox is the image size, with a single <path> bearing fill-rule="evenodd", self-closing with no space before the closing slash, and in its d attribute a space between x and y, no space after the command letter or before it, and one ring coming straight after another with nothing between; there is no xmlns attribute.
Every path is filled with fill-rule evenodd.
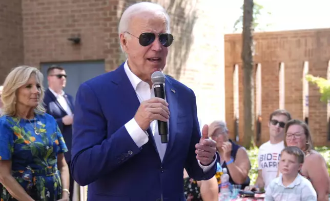
<svg viewBox="0 0 330 201"><path fill-rule="evenodd" d="M285 125L285 147L295 146L305 153L305 161L300 174L310 180L317 193L318 201L328 201L329 174L326 162L315 151L308 126L298 119L292 119Z"/></svg>

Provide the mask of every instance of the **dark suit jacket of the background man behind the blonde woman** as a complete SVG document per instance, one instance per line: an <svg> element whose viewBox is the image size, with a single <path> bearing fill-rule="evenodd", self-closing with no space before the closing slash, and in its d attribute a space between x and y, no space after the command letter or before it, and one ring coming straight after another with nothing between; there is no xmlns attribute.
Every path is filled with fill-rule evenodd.
<svg viewBox="0 0 330 201"><path fill-rule="evenodd" d="M64 95L64 97L67 100L67 103L68 103L71 111L74 112L73 97L67 93ZM67 162L70 162L71 161L72 125L66 126L62 123L62 118L68 114L63 109L63 107L60 106L56 97L49 89L47 89L45 92L44 104L45 104L46 112L48 114L52 115L56 119L57 125L58 125L60 131L62 132L65 143L69 150L64 155L65 155Z"/></svg>

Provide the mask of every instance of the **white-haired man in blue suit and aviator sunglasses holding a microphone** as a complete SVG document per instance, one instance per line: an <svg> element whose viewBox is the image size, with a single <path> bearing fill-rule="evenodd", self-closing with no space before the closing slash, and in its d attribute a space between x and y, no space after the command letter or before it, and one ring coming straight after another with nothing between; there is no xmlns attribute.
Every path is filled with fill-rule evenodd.
<svg viewBox="0 0 330 201"><path fill-rule="evenodd" d="M127 61L78 89L71 171L89 201L183 201L183 168L196 180L216 173L216 143L207 126L200 134L194 92L166 77L166 100L154 97L151 74L166 65L169 27L161 6L130 6L119 23ZM157 120L169 124L167 144Z"/></svg>

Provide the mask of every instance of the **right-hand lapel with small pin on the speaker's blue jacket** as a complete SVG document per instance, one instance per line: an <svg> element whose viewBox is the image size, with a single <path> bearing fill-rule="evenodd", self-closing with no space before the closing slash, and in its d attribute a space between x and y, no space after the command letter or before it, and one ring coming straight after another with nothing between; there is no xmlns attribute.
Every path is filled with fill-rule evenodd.
<svg viewBox="0 0 330 201"><path fill-rule="evenodd" d="M177 127L177 116L178 116L178 91L176 88L172 85L172 82L166 78L165 83L165 94L167 102L169 103L169 109L170 109L170 120L169 120L169 142L166 148L166 152L163 158L163 162L168 157L169 153L171 152L171 149L174 144L175 135L176 135L176 127Z"/></svg>

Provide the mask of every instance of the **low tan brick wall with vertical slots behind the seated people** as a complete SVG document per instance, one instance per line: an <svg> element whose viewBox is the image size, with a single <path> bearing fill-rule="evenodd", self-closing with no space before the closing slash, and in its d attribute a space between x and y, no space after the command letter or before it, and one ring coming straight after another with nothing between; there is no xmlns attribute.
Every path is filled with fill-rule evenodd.
<svg viewBox="0 0 330 201"><path fill-rule="evenodd" d="M243 136L241 35L225 35L225 98L226 121L234 130L233 116L233 66L240 66L239 133ZM261 64L262 73L262 132L261 141L269 140L269 114L279 108L279 66L284 63L285 109L294 118L303 118L302 79L304 62L309 63L309 73L326 77L330 60L330 29L297 30L282 32L255 33L254 62ZM330 145L327 142L326 104L320 102L318 89L314 85L308 90L309 118L315 145Z"/></svg>

